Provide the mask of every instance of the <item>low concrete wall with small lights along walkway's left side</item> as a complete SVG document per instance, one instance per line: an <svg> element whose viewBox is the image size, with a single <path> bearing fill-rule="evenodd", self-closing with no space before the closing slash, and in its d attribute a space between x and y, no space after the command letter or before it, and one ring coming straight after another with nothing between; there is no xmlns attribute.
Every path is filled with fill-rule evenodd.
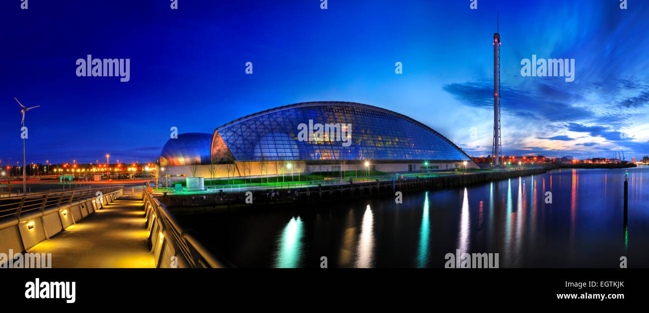
<svg viewBox="0 0 649 313"><path fill-rule="evenodd" d="M122 191L119 190L104 196L114 200L121 195ZM95 198L75 200L72 203L62 203L61 205L48 207L43 211L36 210L23 213L19 218L10 217L0 220L0 253L8 255L9 249L13 250L14 255L21 252L25 253L36 244L53 237L72 224L90 216L96 208L90 208L95 204L94 202L96 202ZM101 205L101 203L97 204ZM33 227L31 227L32 222L34 223Z"/></svg>

